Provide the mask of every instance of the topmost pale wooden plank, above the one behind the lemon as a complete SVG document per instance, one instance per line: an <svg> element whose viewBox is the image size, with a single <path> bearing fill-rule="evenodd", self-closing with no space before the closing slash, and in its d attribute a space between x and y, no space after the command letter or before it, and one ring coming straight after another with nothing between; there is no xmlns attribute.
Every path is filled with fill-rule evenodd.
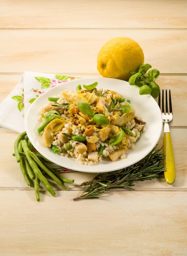
<svg viewBox="0 0 187 256"><path fill-rule="evenodd" d="M186 28L187 1L4 0L2 28Z"/></svg>

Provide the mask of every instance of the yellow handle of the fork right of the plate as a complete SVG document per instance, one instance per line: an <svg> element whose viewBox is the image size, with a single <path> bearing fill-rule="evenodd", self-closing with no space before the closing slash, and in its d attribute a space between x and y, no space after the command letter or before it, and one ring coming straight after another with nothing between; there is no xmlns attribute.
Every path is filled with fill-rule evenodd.
<svg viewBox="0 0 187 256"><path fill-rule="evenodd" d="M163 153L165 155L164 166L166 168L164 177L168 184L172 184L175 181L175 161L170 132L164 133Z"/></svg>

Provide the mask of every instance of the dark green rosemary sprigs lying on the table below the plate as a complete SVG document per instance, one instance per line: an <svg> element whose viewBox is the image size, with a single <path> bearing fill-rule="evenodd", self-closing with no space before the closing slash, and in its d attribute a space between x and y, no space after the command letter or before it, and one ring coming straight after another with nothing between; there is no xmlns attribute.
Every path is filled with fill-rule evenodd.
<svg viewBox="0 0 187 256"><path fill-rule="evenodd" d="M86 186L86 189L73 200L99 198L104 192L119 187L134 190L132 186L137 181L161 177L161 174L165 171L164 155L160 152L161 149L156 149L156 147L157 145L146 157L132 166L118 171L99 173L92 180L83 182L80 186Z"/></svg>

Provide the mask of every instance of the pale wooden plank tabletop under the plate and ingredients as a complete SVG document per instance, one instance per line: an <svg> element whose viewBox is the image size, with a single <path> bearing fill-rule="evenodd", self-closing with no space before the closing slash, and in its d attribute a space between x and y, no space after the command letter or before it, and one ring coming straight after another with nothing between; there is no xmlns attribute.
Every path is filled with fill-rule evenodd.
<svg viewBox="0 0 187 256"><path fill-rule="evenodd" d="M100 76L97 53L117 36L136 40L145 63L161 72L160 88L172 91L176 181L74 202L95 174L66 173L75 178L68 191L44 191L36 202L12 156L18 134L0 128L1 256L187 255L186 0L2 0L0 102L25 71Z"/></svg>

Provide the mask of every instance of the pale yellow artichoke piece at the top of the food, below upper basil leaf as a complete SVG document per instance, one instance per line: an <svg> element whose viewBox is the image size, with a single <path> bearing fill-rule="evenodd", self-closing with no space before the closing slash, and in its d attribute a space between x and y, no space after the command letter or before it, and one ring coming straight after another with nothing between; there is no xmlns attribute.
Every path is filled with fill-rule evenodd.
<svg viewBox="0 0 187 256"><path fill-rule="evenodd" d="M79 102L84 101L88 104L92 104L97 100L97 96L90 93L90 92L84 92L84 93L77 93L73 94L71 92L62 92L62 95L71 103L74 103L75 105L78 105Z"/></svg>

